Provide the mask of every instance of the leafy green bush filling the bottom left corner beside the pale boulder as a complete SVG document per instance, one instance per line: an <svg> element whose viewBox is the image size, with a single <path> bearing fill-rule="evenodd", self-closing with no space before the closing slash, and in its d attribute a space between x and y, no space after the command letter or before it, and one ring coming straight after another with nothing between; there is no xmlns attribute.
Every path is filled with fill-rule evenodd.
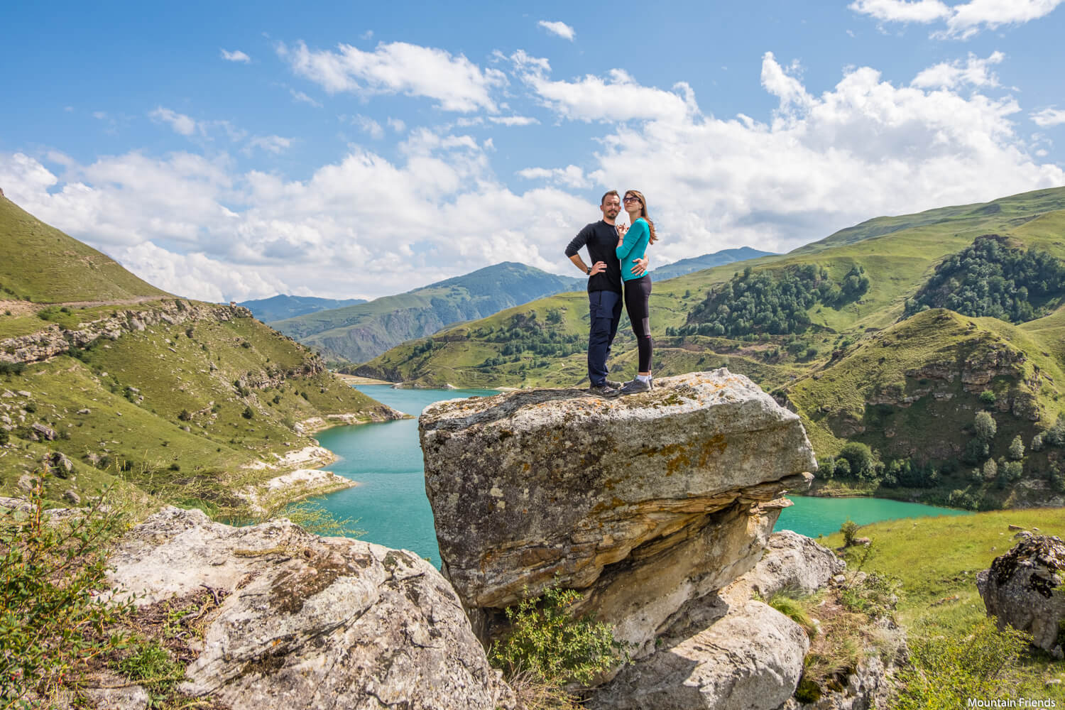
<svg viewBox="0 0 1065 710"><path fill-rule="evenodd" d="M0 706L46 707L76 684L92 659L126 639L109 635L132 609L95 594L109 587L106 552L126 522L101 495L83 514L50 522L44 514L47 472L28 512L0 517Z"/></svg>

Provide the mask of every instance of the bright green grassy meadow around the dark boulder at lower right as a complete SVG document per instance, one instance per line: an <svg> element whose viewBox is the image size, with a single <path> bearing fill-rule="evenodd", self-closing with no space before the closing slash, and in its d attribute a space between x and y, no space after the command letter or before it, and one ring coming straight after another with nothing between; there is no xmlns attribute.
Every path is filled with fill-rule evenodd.
<svg viewBox="0 0 1065 710"><path fill-rule="evenodd" d="M873 555L863 569L902 581L898 615L911 635L966 635L986 613L977 592L977 573L1013 547L1010 525L1063 536L1065 509L995 511L867 525L858 534L872 539ZM836 547L842 545L842 535L833 534L823 542ZM1065 684L1044 684L1052 678L1065 680L1060 662L1033 654L1020 667L1029 681L1016 689L1015 697L1054 699L1058 707L1065 706Z"/></svg>

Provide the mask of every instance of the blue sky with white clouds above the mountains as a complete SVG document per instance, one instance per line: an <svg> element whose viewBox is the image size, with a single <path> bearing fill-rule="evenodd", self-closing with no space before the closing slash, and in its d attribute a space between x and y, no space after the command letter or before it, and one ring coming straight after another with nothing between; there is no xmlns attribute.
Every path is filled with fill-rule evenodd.
<svg viewBox="0 0 1065 710"><path fill-rule="evenodd" d="M0 10L0 187L195 298L576 275L609 188L663 264L1065 184L1065 0L96 4Z"/></svg>

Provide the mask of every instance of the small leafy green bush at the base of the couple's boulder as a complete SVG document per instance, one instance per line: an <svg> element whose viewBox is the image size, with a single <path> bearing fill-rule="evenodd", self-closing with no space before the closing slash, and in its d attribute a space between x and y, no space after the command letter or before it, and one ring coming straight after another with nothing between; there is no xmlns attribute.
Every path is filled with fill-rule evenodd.
<svg viewBox="0 0 1065 710"><path fill-rule="evenodd" d="M580 598L574 590L551 588L539 598L508 607L512 629L492 644L489 661L508 676L529 672L553 686L591 682L621 653L610 625L574 617L572 606Z"/></svg>

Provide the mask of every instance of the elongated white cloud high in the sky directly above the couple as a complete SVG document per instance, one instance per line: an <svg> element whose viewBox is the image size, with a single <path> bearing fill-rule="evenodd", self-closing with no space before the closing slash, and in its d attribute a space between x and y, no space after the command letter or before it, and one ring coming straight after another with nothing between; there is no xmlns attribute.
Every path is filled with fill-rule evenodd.
<svg viewBox="0 0 1065 710"><path fill-rule="evenodd" d="M510 56L515 72L560 116L584 121L684 120L698 111L695 93L684 82L673 92L642 86L624 69L611 69L607 78L588 75L572 82L551 81L545 59L518 50Z"/></svg>

